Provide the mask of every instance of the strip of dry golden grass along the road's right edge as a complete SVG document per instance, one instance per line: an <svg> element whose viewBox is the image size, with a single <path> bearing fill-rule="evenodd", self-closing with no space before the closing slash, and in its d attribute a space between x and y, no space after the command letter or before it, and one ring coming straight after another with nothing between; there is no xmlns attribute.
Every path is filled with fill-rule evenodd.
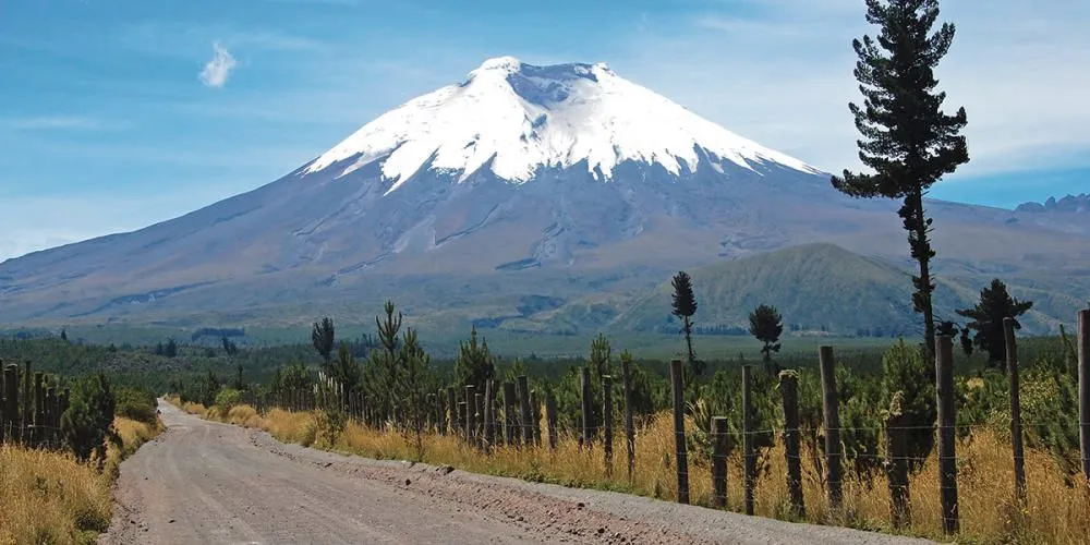
<svg viewBox="0 0 1090 545"><path fill-rule="evenodd" d="M173 400L178 404L178 400ZM375 459L415 459L410 441L398 433L380 433L355 423L328 444L319 433L319 420L312 412L288 412L274 409L265 416L249 405L232 408L226 414L218 408L206 409L185 403L183 409L199 416L261 428L287 443L355 453ZM692 422L687 422L692 429ZM622 435L614 441L613 471L606 470L603 450L595 446L580 452L573 437L558 437L555 452L547 448L547 431L541 449L496 448L491 456L470 448L451 436L427 435L424 439L424 462L449 464L465 471L543 481L565 486L613 489L662 498L676 499L673 419L662 413L645 428L637 431L635 464L631 481L626 470ZM1003 434L982 427L958 444L959 509L961 533L958 543L1090 543L1090 491L1080 484L1069 486L1065 474L1052 458L1040 451L1027 450L1026 476L1028 505L1019 509L1014 498L1014 468L1010 445ZM938 472L935 453L910 484L912 522L900 533L938 541L953 541L941 532ZM807 521L841 524L853 528L893 532L889 524L889 493L881 472L868 484L847 472L844 484L844 514L829 518L824 491L818 481L811 453L803 452L803 496ZM756 483L755 513L761 517L788 519L787 464L784 447L777 444L767 450ZM743 489L740 456L728 461L728 508L742 511ZM1078 483L1080 475L1071 482ZM689 456L689 484L692 504L710 506L712 495L711 467L706 458Z"/></svg>

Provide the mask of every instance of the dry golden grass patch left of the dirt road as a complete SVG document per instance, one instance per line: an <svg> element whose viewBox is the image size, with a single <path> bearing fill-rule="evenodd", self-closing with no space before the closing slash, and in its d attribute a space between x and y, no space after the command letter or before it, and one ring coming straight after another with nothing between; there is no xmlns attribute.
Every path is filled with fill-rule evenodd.
<svg viewBox="0 0 1090 545"><path fill-rule="evenodd" d="M152 426L116 419L121 447L110 446L99 473L68 453L0 447L0 543L94 543L110 524L110 483L128 455L155 437Z"/></svg>

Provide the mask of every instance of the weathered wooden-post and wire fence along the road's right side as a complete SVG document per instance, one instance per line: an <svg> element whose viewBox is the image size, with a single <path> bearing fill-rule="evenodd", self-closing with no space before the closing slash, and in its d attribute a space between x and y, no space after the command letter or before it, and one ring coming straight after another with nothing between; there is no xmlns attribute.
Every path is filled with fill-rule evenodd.
<svg viewBox="0 0 1090 545"><path fill-rule="evenodd" d="M1012 467L1015 469L1015 484L1012 494L1019 502L1026 501L1025 482L1025 459L1022 447L1024 435L1027 429L1047 432L1056 425L1056 422L1022 422L1020 420L1020 407L1018 398L1018 371L1017 371L1017 344L1013 334L1012 324L1006 323L1007 342L1007 375L1010 388L1010 426L1006 428L1012 434ZM707 446L711 452L705 456L702 452L689 452L689 437L686 435L685 422L687 407L683 396L681 396L680 361L671 362L671 390L673 390L673 412L676 423L675 429L675 462L677 472L676 498L680 502L689 501L689 477L690 467L697 467L705 460L711 465L713 480L712 504L722 507L726 504L726 475L727 465L737 456L729 449L729 439L734 444L741 444L741 465L744 475L744 511L754 511L753 488L756 486L758 458L761 450L766 446L759 447L760 441L753 440L756 437L773 438L773 444L778 439L785 447L784 459L787 465L787 479L789 488L789 501L791 512L797 517L806 513L802 491L802 468L810 464L810 479L816 481L819 488L825 493L825 502L828 511L834 516L843 509L843 484L846 463L857 464L853 468L855 480L873 480L877 474L883 474L887 479L889 487L891 521L894 526L903 526L911 520L911 506L908 502L910 476L918 473L919 469L928 463L937 464L938 479L937 492L940 494L942 531L945 534L955 534L960 530L960 513L958 502L958 473L959 468L964 469L973 462L972 457L958 455L957 448L964 446L966 440L972 440L973 436L981 431L989 429L1000 432L994 424L958 424L956 421L956 392L953 384L953 340L948 336L941 336L936 340L935 350L936 366L936 408L937 420L934 424L912 425L906 424L897 411L891 411L885 416L885 425L877 426L845 426L839 422L840 400L837 399L837 386L835 384L835 359L833 349L823 346L819 349L819 360L822 372L822 419L819 425L799 425L798 419L798 396L794 393L794 386L788 389L792 391L790 396L784 396L784 422L796 425L771 426L753 429L753 401L748 376L749 365L743 366L743 408L742 408L742 429L731 431L726 426L725 415L712 415L705 426L700 432L706 434ZM1088 488L1090 494L1090 311L1079 313L1078 325L1078 403L1079 411L1074 415L1079 428L1078 455L1073 463L1071 474L1081 472L1081 484ZM585 371L580 378L586 385ZM786 373L786 375L785 375ZM787 371L780 373L782 391L785 383L797 380L797 375ZM596 423L590 417L592 393L584 386L581 388L581 422L570 423L568 429L558 432L556 415L556 400L552 392L546 392L544 398L537 397L536 391L526 389L525 376L520 376L516 382L493 382L486 386L486 392L497 392L497 395L482 396L473 392L473 388L440 388L434 393L426 396L426 428L428 431L453 435L472 448L477 448L482 453L492 452L494 447L517 447L517 448L545 448L541 441L541 404L545 405L545 425L549 440L547 448L557 448L557 435L568 435L578 439L580 450L589 456L604 456L604 463L611 469L613 462L613 434L604 433L606 428L613 428L617 420L614 415L611 421ZM605 382L613 384L611 380ZM628 407L629 391L628 368L625 368L623 380L620 385L623 392L619 399ZM502 388L497 388L502 386ZM519 386L516 388L516 386ZM331 395L329 392L332 392ZM501 393L501 398L499 396ZM611 396L603 396L610 399ZM533 403L531 404L531 401ZM283 390L272 395L258 397L250 392L249 402L255 409L265 414L271 409L282 409L289 411L313 411L316 409L343 411L350 421L373 429L385 431L397 427L403 423L398 422L398 414L380 413L376 410L375 400L368 399L361 391L346 391L336 383L318 385L310 389ZM626 409L628 411L628 408ZM877 408L875 408L877 410ZM610 411L603 411L603 414ZM632 475L634 460L634 449L632 445L635 429L631 424L631 417L626 415L623 425L625 441L628 445L628 468L629 476ZM487 427L491 426L491 429ZM704 428L706 427L706 429ZM1003 426L1000 426L1003 427ZM913 456L909 453L910 445L906 440L909 432L927 432L931 435L936 447L936 453ZM856 437L859 434L870 434L870 449L856 450L851 440L845 437ZM802 438L809 438L803 441ZM959 439L960 438L960 439ZM790 439L790 440L787 440ZM605 441L604 448L598 455L598 443ZM807 443L810 450L809 456L802 453L801 445ZM593 455L592 455L593 453ZM695 456L692 456L695 455ZM929 487L930 489L930 487ZM811 498L812 500L812 498Z"/></svg>

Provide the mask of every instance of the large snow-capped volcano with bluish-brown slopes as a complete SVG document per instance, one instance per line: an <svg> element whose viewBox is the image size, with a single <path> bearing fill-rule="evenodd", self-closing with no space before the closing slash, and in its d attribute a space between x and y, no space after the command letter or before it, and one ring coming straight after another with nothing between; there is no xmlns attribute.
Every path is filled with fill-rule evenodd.
<svg viewBox="0 0 1090 545"><path fill-rule="evenodd" d="M1090 269L1066 223L928 206L941 277ZM908 268L896 208L604 65L499 58L254 191L0 263L0 322L363 322L392 298L462 327L812 242Z"/></svg>

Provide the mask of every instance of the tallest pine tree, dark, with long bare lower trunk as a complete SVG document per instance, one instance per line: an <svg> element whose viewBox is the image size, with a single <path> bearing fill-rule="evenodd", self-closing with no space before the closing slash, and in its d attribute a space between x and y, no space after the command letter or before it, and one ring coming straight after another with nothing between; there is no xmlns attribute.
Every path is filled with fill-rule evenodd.
<svg viewBox="0 0 1090 545"><path fill-rule="evenodd" d="M867 0L867 22L882 27L876 40L852 40L859 61L856 78L865 97L862 107L850 104L859 158L873 174L844 171L833 186L853 197L901 199L898 211L911 256L919 264L912 277L912 306L923 314L924 341L934 353L935 324L931 274L931 218L923 197L932 184L969 161L965 108L955 116L942 111L946 94L935 92L934 68L954 40L954 25L944 23L931 34L938 17L937 0ZM883 51L884 50L884 51Z"/></svg>

